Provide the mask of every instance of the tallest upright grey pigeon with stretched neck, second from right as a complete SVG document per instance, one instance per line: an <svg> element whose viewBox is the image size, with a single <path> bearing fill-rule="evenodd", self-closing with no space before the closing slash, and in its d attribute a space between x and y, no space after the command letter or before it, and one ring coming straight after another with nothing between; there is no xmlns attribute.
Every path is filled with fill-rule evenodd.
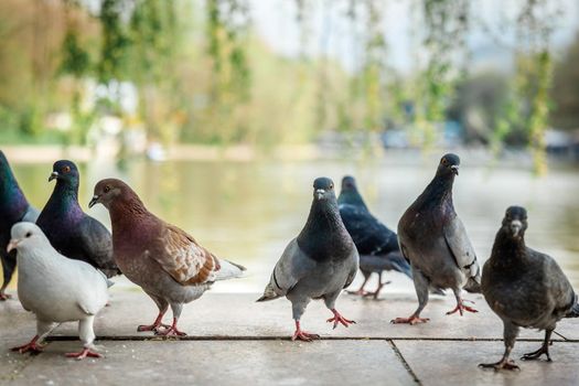
<svg viewBox="0 0 579 386"><path fill-rule="evenodd" d="M461 298L462 288L481 291L481 269L452 204L452 184L459 175L459 165L458 156L443 156L430 184L398 223L398 240L404 256L410 260L418 309L409 318L397 318L393 323L427 322L420 312L428 303L429 287L450 288L454 292L457 307L447 314L478 312Z"/></svg>

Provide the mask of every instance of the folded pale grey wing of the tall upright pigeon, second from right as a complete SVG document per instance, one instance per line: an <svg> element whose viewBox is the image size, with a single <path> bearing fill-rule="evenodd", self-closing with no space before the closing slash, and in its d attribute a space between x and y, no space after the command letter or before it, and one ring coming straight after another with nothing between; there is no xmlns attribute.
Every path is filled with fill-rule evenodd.
<svg viewBox="0 0 579 386"><path fill-rule="evenodd" d="M459 217L452 218L443 228L447 245L457 261L459 268L468 278L481 282L481 268L476 260L476 254L471 240L467 235L467 229Z"/></svg>

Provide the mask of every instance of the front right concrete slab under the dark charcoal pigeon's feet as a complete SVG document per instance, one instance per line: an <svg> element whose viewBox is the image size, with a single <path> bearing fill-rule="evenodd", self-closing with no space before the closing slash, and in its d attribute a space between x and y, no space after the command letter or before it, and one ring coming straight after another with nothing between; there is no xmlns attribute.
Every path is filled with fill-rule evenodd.
<svg viewBox="0 0 579 386"><path fill-rule="evenodd" d="M550 347L554 362L521 361L524 353L538 349L536 342L517 342L512 358L521 372L482 369L480 363L496 362L503 342L394 341L410 369L425 386L437 385L577 385L577 343L559 342Z"/></svg>

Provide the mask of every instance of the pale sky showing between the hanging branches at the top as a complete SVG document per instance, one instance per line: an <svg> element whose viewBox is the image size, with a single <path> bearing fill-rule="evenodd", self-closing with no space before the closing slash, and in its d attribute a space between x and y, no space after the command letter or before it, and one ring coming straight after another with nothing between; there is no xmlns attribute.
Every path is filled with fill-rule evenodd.
<svg viewBox="0 0 579 386"><path fill-rule="evenodd" d="M377 0L379 1L379 0ZM294 0L250 0L251 18L257 33L275 52L296 57L302 52L317 57L322 53L337 60L349 71L360 65L362 47L355 31L349 25L345 1L310 0L308 14L308 39L304 47L300 46L300 26L297 22ZM474 28L468 39L469 52L478 67L510 67L514 34L503 31L507 21L514 20L524 0L478 0ZM416 62L416 47L422 32L416 24L417 0L386 0L383 31L388 44L389 64L405 73L411 72ZM553 34L555 53L561 53L570 44L579 29L578 0L548 0L548 12L555 8L560 17L554 19ZM481 25L486 25L482 28ZM360 25L364 28L364 25ZM491 33L489 33L489 31Z"/></svg>

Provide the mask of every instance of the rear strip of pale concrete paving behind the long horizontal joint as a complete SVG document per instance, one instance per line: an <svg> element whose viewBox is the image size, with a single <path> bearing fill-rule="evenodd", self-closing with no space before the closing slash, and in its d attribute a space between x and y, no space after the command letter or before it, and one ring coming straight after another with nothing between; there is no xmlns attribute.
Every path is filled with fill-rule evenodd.
<svg viewBox="0 0 579 386"><path fill-rule="evenodd" d="M111 290L111 305L97 315L95 330L98 336L147 336L151 333L137 333L138 324L151 323L157 315L153 302L140 290ZM258 294L205 293L200 300L185 305L180 328L195 336L243 336L278 337L289 336L293 332L291 307L286 299L256 303ZM325 320L331 313L323 302L312 301L302 319L305 329L336 337L385 337L385 339L453 339L480 340L502 339L503 326L498 318L489 309L482 296L471 296L476 302L479 313L446 315L454 307L452 297L432 297L423 317L431 321L426 324L390 324L396 317L410 314L415 307L411 294L386 293L384 300L366 300L342 294L337 309L357 324L349 329L339 326L332 330ZM169 322L171 313L165 317ZM0 304L0 335L14 331L23 337L34 332L33 315L23 311L17 301ZM55 331L57 335L76 336L76 325L67 323ZM579 319L566 319L559 322L557 332L567 339L579 340ZM12 334L12 332L11 332ZM543 333L524 330L521 337L543 339ZM560 339L555 335L555 339ZM1 341L1 337L0 337Z"/></svg>

